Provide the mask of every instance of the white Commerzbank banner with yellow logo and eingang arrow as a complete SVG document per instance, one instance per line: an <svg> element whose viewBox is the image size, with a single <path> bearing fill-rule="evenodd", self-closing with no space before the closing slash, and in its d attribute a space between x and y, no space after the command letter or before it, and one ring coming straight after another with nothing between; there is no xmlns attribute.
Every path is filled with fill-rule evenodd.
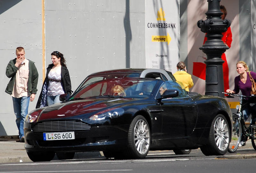
<svg viewBox="0 0 256 173"><path fill-rule="evenodd" d="M180 58L179 4L180 0L145 1L147 68L177 70Z"/></svg>

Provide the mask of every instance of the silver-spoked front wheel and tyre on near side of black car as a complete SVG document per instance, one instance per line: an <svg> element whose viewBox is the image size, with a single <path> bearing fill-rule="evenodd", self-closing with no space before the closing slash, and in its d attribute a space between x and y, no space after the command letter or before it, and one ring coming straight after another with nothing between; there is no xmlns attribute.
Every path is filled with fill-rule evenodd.
<svg viewBox="0 0 256 173"><path fill-rule="evenodd" d="M128 131L128 149L126 156L130 159L143 159L150 149L151 133L147 120L138 115L130 124Z"/></svg>

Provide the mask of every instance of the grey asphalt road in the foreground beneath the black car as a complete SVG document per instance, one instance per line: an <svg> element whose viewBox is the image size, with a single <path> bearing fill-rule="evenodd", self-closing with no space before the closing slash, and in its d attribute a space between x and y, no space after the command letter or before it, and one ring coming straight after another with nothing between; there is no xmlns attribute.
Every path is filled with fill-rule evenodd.
<svg viewBox="0 0 256 173"><path fill-rule="evenodd" d="M253 148L239 148L228 156L254 155ZM2 163L0 173L241 173L256 169L256 157L218 158L204 156L200 149L189 155L175 155L172 151L151 151L146 159L114 160L81 158L66 161Z"/></svg>

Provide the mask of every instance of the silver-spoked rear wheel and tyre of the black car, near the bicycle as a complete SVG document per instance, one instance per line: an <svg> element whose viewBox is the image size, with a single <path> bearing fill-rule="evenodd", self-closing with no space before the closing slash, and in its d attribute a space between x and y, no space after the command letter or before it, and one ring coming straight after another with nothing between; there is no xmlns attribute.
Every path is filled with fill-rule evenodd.
<svg viewBox="0 0 256 173"><path fill-rule="evenodd" d="M202 153L208 155L224 155L229 148L230 129L227 119L219 114L211 124L209 143L200 147Z"/></svg>

